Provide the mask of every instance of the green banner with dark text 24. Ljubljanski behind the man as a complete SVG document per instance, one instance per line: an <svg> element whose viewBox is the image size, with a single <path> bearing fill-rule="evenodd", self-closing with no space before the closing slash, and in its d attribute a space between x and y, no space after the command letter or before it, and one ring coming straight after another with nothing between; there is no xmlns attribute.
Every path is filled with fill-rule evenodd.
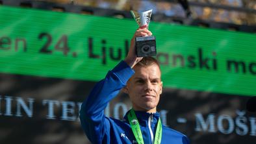
<svg viewBox="0 0 256 144"><path fill-rule="evenodd" d="M125 58L133 19L0 6L0 72L97 81ZM168 88L256 95L256 35L151 22Z"/></svg>

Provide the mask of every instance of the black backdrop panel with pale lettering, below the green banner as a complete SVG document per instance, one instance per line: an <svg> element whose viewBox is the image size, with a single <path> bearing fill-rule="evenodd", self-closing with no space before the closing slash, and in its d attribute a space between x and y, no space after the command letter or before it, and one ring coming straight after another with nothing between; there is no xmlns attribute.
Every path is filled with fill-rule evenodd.
<svg viewBox="0 0 256 144"><path fill-rule="evenodd" d="M76 121L61 119L61 104L54 107L56 118L47 119L48 109L42 104L42 101L48 99L58 102L71 101L77 104L77 102L84 101L94 84L96 82L0 74L0 143L90 143L84 135L78 119ZM10 96L13 99L12 116L5 115L5 96ZM34 99L32 117L28 117L23 110L21 110L23 114L21 117L16 116L16 97L21 97L27 106L29 105L27 99ZM166 110L167 126L186 134L192 143L255 143L255 136L250 136L249 119L250 117L255 119L256 115L246 112L246 102L249 98L240 95L164 88L158 111ZM114 106L118 102L125 104L128 109L131 106L129 97L120 93L109 104L111 117L114 115ZM75 106L74 109L78 117L78 106ZM121 119L123 112L121 108L119 111ZM242 116L246 119L248 133L244 136L240 136L236 132L238 128L235 122L238 118L237 112L245 113ZM209 126L206 131L197 131L196 114L202 115L205 123L207 123L209 114L214 114L216 132L209 132ZM218 130L218 118L221 115L229 115L234 121L235 128L230 134L223 134ZM178 118L186 119L186 122L179 123ZM227 120L222 122L224 129L227 130L230 123L227 123Z"/></svg>

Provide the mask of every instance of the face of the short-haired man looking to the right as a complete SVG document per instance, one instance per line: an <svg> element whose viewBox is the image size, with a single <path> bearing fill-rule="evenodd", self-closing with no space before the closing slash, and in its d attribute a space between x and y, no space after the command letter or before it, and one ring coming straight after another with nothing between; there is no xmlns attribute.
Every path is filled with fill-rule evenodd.
<svg viewBox="0 0 256 144"><path fill-rule="evenodd" d="M160 69L157 64L147 67L135 66L135 74L124 88L133 103L134 110L156 112L162 93Z"/></svg>

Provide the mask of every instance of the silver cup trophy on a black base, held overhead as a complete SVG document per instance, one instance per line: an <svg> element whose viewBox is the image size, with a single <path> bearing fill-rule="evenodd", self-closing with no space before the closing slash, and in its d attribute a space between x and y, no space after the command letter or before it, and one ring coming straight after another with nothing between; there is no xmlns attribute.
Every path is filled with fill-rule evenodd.
<svg viewBox="0 0 256 144"><path fill-rule="evenodd" d="M135 19L138 26L147 25L149 27L149 21L151 18L152 10L146 12L134 12L131 10L131 14ZM157 47L155 43L155 36L142 36L135 38L136 55L138 57L155 56L157 55Z"/></svg>

